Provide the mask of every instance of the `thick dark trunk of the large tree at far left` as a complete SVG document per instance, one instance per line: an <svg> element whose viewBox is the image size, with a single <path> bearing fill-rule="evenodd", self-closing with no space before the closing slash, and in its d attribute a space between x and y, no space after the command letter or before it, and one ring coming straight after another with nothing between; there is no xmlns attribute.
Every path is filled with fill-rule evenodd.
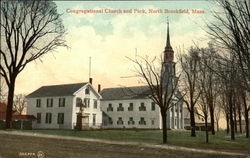
<svg viewBox="0 0 250 158"><path fill-rule="evenodd" d="M14 91L15 91L15 81L14 77L10 80L10 85L8 86L8 104L7 104L7 113L6 113L6 123L5 129L10 129L11 122L12 122L12 109L13 109L13 98L14 98Z"/></svg>

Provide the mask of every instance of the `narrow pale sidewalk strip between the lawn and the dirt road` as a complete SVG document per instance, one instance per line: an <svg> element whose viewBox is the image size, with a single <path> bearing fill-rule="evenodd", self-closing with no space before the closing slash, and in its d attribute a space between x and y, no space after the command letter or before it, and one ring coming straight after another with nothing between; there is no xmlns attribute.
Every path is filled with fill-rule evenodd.
<svg viewBox="0 0 250 158"><path fill-rule="evenodd" d="M135 146L140 146L142 148L149 147L149 148L157 148L157 149L165 149L165 150L189 151L189 152L199 152L199 153L218 154L218 155L246 156L247 158L250 158L250 154L245 154L245 153L234 153L234 152L217 151L217 150L210 150L210 149L195 149L195 148L187 148L187 147L163 145L163 144L150 144L150 143L139 143L139 142L120 142L120 141L80 138L80 137L72 137L72 136L28 133L28 132L21 132L21 131L2 131L2 130L0 130L0 134L31 136L31 137L39 137L39 138L50 138L50 139L74 140L74 141L87 141L87 142L96 142L96 143L113 144L113 145L135 145Z"/></svg>

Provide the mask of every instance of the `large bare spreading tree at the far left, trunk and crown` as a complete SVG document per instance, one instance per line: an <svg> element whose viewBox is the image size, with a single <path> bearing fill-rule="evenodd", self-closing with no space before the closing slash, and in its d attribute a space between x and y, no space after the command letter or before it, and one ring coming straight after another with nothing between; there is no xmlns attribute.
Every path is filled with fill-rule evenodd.
<svg viewBox="0 0 250 158"><path fill-rule="evenodd" d="M1 2L0 75L8 86L5 128L11 128L15 82L30 62L66 46L57 6L46 1Z"/></svg>

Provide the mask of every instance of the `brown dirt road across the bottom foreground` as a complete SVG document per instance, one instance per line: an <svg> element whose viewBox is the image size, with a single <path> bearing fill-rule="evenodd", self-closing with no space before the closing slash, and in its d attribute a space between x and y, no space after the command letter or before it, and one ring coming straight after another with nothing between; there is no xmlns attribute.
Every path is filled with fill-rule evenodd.
<svg viewBox="0 0 250 158"><path fill-rule="evenodd" d="M0 158L210 158L245 157L155 149L140 145L40 138L0 133Z"/></svg>

